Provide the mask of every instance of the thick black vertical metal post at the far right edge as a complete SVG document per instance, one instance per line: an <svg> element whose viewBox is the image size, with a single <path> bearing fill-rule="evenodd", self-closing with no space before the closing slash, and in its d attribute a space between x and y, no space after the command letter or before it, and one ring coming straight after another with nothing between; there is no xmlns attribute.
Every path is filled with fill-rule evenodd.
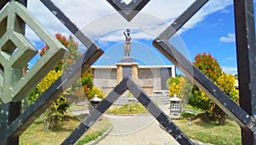
<svg viewBox="0 0 256 145"><path fill-rule="evenodd" d="M234 9L240 106L255 120L256 48L253 0L234 0ZM241 128L241 136L243 144L256 144L253 132Z"/></svg>

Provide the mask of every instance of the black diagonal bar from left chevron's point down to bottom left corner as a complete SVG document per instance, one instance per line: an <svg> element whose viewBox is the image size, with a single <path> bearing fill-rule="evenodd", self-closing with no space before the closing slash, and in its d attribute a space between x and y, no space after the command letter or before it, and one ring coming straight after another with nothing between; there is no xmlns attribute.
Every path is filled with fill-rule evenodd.
<svg viewBox="0 0 256 145"><path fill-rule="evenodd" d="M49 107L55 99L73 84L82 73L84 73L93 62L95 62L101 55L102 49L88 49L79 59L67 68L67 71L62 73L54 84L44 94L39 96L36 102L27 107L25 112L15 119L9 126L9 136L20 136L32 122L44 113L44 110Z"/></svg>

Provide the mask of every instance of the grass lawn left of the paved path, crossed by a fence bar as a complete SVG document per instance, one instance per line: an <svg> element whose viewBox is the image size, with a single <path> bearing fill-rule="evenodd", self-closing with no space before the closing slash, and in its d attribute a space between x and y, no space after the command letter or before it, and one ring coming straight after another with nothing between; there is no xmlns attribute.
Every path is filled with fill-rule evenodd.
<svg viewBox="0 0 256 145"><path fill-rule="evenodd" d="M79 118L82 118L81 116ZM63 122L57 125L53 131L45 131L42 119L37 119L30 127L20 136L20 145L55 145L61 144L67 136L80 124L76 116L67 115ZM90 140L101 136L103 131L107 131L111 126L108 118L102 118L87 131L77 142L84 144Z"/></svg>

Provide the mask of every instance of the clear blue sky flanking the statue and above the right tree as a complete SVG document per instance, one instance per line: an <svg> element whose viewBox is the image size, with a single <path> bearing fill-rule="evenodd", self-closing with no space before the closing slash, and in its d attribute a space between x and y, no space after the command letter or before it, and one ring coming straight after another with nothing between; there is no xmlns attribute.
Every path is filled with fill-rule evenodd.
<svg viewBox="0 0 256 145"><path fill-rule="evenodd" d="M233 5L230 5L218 12L208 14L205 20L198 22L192 29L181 32L176 37L178 37L179 41L182 41L182 46L179 43L176 44L177 38L174 38L173 41L171 38L170 42L176 45L177 49L181 49L182 52L183 49L187 50L188 52L185 55L191 61L194 61L194 57L198 53L211 53L218 60L224 72L236 74L236 40L233 10ZM121 35L122 33L120 33L120 37L122 37ZM98 44L101 46L100 43ZM106 49L102 60L97 61L96 64L113 65L123 56L124 42L109 43L103 46L104 48L109 48ZM145 64L172 64L157 51L152 45L151 39L131 41L131 56L142 59ZM110 55L113 57L110 57ZM152 59L151 56L153 55L157 57Z"/></svg>

